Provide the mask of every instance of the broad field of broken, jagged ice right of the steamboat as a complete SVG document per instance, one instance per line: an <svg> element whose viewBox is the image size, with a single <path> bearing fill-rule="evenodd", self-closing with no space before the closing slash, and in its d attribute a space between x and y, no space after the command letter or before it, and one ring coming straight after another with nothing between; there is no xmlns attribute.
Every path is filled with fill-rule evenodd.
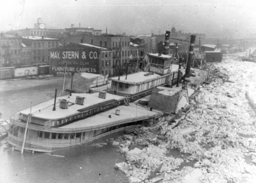
<svg viewBox="0 0 256 183"><path fill-rule="evenodd" d="M228 82L211 75L177 127L165 116L118 140L130 182L255 182L256 64L224 56L215 66Z"/></svg>

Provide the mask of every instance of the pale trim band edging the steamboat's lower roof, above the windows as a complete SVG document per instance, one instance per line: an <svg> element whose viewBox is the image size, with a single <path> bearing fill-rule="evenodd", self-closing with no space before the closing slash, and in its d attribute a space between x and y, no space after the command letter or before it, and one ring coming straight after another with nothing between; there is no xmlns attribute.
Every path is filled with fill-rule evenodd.
<svg viewBox="0 0 256 183"><path fill-rule="evenodd" d="M149 118L156 118L159 117L162 114L154 114L154 115L143 115L143 116L139 116L139 117L133 117L133 118L127 118L127 119L122 119L122 120L117 120L114 122L109 122L106 124L102 124L102 125L95 125L95 126L88 126L88 127L77 127L77 128L52 128L52 127L45 127L45 126L39 126L39 125L34 125L34 124L28 124L28 128L32 129L32 130L40 130L40 131L44 131L44 132L52 132L52 133L79 133L79 132L84 132L84 131L91 131L91 130L97 130L97 129L101 129L101 128L107 128L107 127L111 127L114 125L121 125L127 122L134 122L134 121L140 121L140 120L144 120L144 119L149 119ZM84 119L86 120L86 119ZM26 123L25 122L21 122L18 120L14 120L11 119L11 123L17 126L21 126L21 127L25 127Z"/></svg>

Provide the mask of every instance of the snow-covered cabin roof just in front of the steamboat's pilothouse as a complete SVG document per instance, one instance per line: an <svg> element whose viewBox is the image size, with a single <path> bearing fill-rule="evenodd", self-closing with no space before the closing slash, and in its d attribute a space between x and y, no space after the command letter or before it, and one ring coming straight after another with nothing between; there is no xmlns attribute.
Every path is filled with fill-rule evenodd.
<svg viewBox="0 0 256 183"><path fill-rule="evenodd" d="M148 74L148 75L147 75ZM146 80L154 79L159 77L160 75L152 72L136 72L127 75L127 79L125 79L124 76L120 76L120 80L118 80L118 76L110 78L111 80L121 82L121 83L140 83L140 82L145 82Z"/></svg>

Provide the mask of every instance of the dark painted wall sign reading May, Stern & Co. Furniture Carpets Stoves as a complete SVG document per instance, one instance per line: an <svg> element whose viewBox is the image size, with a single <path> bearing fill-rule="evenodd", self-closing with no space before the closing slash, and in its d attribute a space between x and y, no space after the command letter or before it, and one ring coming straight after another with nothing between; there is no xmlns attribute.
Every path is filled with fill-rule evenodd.
<svg viewBox="0 0 256 183"><path fill-rule="evenodd" d="M72 72L99 73L100 51L93 48L63 48L50 51L50 70L55 76Z"/></svg>

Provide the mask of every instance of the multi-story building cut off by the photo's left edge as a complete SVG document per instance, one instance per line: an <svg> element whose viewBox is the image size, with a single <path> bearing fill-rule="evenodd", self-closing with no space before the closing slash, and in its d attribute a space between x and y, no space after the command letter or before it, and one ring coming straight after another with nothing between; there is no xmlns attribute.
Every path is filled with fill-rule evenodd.
<svg viewBox="0 0 256 183"><path fill-rule="evenodd" d="M1 33L0 67L21 64L21 37Z"/></svg>

